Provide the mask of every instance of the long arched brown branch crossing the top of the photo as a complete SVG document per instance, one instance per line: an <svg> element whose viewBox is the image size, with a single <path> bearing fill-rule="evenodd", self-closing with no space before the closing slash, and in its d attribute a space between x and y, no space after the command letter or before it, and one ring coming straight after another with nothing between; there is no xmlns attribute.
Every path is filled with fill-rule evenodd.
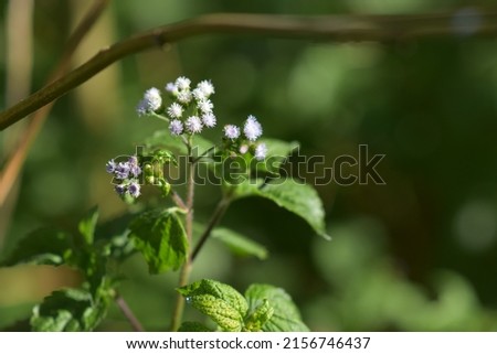
<svg viewBox="0 0 497 354"><path fill-rule="evenodd" d="M414 15L320 15L219 13L160 26L101 51L63 78L0 114L3 130L130 54L208 33L260 34L337 42L404 41L455 35L496 35L497 12L459 11Z"/></svg>

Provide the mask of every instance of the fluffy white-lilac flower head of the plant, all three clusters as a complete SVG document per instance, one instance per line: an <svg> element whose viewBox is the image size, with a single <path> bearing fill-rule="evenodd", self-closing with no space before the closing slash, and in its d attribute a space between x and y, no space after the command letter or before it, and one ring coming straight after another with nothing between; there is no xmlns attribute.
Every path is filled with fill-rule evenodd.
<svg viewBox="0 0 497 354"><path fill-rule="evenodd" d="M203 79L192 85L190 78L180 76L163 86L163 94L170 103L162 101L161 92L151 87L144 93L138 103L138 116L150 115L167 122L167 130L171 137L182 137L184 143L191 143L191 136L200 135L207 128L218 125L214 114L212 95L215 93L211 81ZM165 97L166 97L165 96ZM223 126L222 141L213 148L221 149L222 155L264 161L268 148L263 142L256 142L263 133L262 125L253 115L248 115L242 125L226 124ZM209 150L210 151L210 150ZM212 149L212 151L216 151ZM161 164L173 161L176 157L167 151L167 158L157 151L151 155L131 157L127 161L110 160L106 163L107 173L114 176L115 191L126 201L133 201L141 195L141 183L159 186L163 195L169 193L171 185L166 180ZM139 160L141 159L141 160ZM150 160L152 159L152 160ZM154 160L156 159L156 160ZM142 168L139 165L142 161ZM156 161L156 162L154 162ZM159 161L159 164L157 164Z"/></svg>

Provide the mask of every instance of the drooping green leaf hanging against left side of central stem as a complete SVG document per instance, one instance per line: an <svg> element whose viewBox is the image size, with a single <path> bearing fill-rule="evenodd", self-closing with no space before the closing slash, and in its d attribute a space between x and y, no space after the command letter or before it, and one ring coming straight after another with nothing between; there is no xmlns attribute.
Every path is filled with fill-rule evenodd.
<svg viewBox="0 0 497 354"><path fill-rule="evenodd" d="M150 273L176 270L187 259L187 235L176 211L148 211L129 225L129 236L144 255Z"/></svg>

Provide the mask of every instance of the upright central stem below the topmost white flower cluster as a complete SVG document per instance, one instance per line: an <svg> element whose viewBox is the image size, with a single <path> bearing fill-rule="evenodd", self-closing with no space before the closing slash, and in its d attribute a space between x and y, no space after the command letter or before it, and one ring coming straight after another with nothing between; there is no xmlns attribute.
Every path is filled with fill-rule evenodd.
<svg viewBox="0 0 497 354"><path fill-rule="evenodd" d="M187 141L188 157L191 159L191 137ZM186 232L188 244L192 244L193 239L193 200L194 200L194 186L195 186L195 164L190 160L188 162L188 181L187 181L187 217L186 217ZM178 287L184 287L188 283L191 272L191 255L188 255L187 260L181 267ZM172 320L170 330L178 331L184 310L184 298L178 293L176 298L175 309L172 311Z"/></svg>

